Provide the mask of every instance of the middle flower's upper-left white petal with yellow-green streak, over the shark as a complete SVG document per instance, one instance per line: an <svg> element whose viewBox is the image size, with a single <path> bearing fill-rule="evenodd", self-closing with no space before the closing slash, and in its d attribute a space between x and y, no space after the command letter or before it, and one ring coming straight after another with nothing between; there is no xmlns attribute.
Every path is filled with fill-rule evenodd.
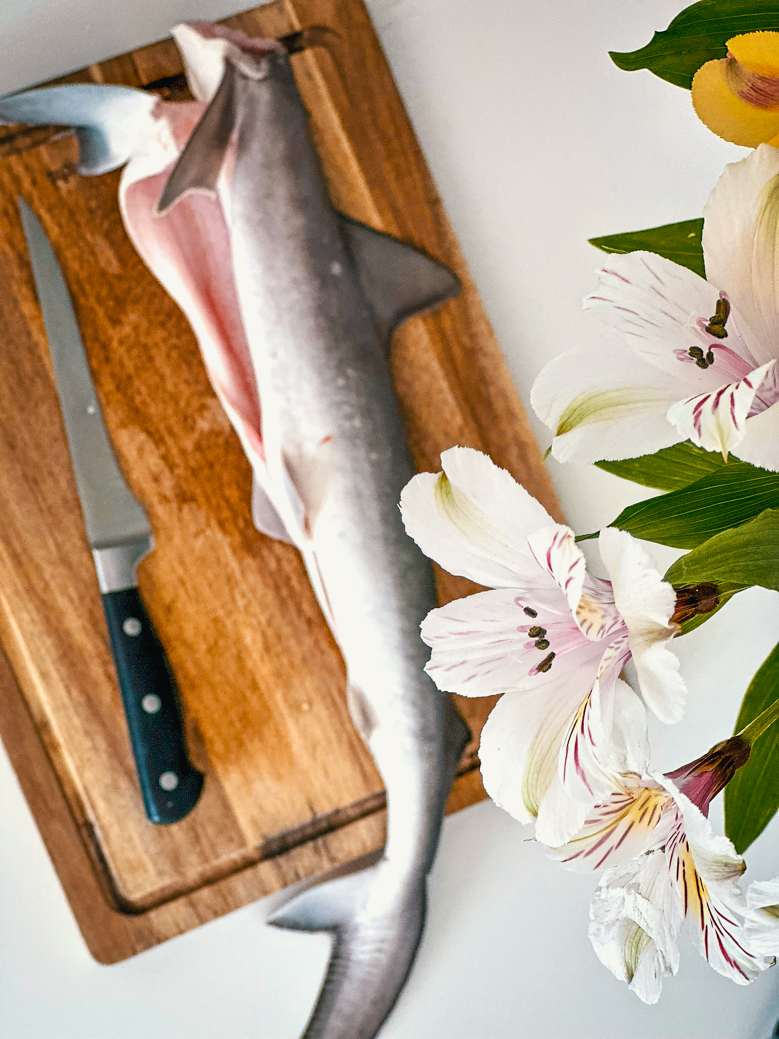
<svg viewBox="0 0 779 1039"><path fill-rule="evenodd" d="M406 530L450 574L493 588L533 586L538 567L527 537L553 521L506 470L472 448L441 454L444 472L403 489Z"/></svg>

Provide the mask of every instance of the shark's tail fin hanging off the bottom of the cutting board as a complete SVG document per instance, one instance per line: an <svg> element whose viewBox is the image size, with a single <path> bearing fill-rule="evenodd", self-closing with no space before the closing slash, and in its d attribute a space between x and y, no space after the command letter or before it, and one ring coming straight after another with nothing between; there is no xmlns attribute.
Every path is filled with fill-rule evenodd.
<svg viewBox="0 0 779 1039"><path fill-rule="evenodd" d="M331 931L327 973L302 1039L373 1039L411 969L425 924L423 874L376 865L292 898L268 920L295 931Z"/></svg>

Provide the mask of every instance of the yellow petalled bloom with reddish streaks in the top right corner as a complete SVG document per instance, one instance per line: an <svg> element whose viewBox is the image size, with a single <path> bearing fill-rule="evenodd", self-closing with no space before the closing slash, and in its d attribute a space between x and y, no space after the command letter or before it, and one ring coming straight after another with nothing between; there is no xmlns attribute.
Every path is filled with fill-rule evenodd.
<svg viewBox="0 0 779 1039"><path fill-rule="evenodd" d="M693 78L698 118L734 144L779 146L779 32L733 36L727 48Z"/></svg>

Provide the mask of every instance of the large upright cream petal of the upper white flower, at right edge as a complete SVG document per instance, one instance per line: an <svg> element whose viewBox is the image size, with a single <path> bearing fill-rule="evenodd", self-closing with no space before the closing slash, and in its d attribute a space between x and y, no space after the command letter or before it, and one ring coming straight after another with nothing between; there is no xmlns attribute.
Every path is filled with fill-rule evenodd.
<svg viewBox="0 0 779 1039"><path fill-rule="evenodd" d="M777 356L779 152L760 144L725 167L703 207L706 277L746 319L755 367Z"/></svg>

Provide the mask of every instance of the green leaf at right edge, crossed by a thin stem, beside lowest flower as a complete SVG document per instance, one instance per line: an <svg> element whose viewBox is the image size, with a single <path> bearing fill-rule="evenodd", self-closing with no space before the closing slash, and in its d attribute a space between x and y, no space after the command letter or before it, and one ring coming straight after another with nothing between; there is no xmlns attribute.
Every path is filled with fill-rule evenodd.
<svg viewBox="0 0 779 1039"><path fill-rule="evenodd" d="M749 684L735 731L740 732L779 699L779 645ZM779 808L779 725L772 725L752 746L744 768L725 788L725 833L742 855Z"/></svg>

